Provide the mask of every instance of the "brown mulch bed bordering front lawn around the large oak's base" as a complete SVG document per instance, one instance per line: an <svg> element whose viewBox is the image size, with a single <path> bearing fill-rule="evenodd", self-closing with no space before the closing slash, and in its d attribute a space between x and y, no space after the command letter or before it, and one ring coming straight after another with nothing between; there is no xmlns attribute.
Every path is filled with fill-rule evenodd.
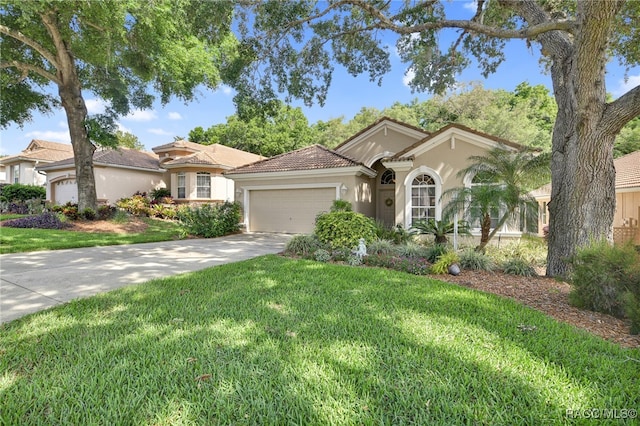
<svg viewBox="0 0 640 426"><path fill-rule="evenodd" d="M629 334L630 324L611 315L569 305L571 286L547 277L521 277L501 272L462 271L458 276L433 278L514 299L524 305L627 348L640 347L640 335Z"/></svg>

